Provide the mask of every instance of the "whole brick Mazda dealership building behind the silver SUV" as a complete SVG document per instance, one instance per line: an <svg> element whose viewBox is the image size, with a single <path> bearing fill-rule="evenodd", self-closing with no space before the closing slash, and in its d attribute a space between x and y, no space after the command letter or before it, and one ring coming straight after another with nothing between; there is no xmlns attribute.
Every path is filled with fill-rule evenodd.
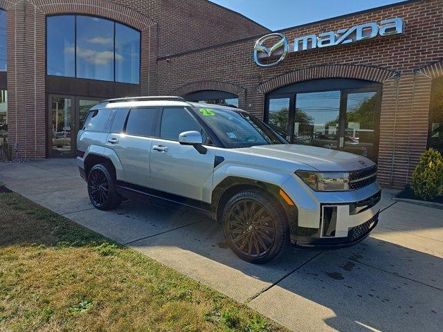
<svg viewBox="0 0 443 332"><path fill-rule="evenodd" d="M264 46L286 38L289 52L257 52L259 64L282 59L269 67L253 53L270 31L205 0L0 0L0 8L0 135L22 157L74 156L91 104L156 94L233 104L291 142L368 156L384 187L404 187L427 147L443 149L443 0L278 31ZM395 18L395 33L383 33Z"/></svg>

